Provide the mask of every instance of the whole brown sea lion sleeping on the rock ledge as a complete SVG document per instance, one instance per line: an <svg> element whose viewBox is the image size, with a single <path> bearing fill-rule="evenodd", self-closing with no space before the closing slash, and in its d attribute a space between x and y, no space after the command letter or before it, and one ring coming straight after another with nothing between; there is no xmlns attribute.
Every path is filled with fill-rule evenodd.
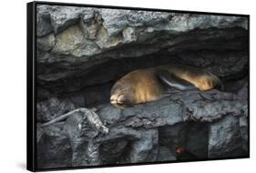
<svg viewBox="0 0 256 173"><path fill-rule="evenodd" d="M110 103L124 108L169 96L174 89L205 91L217 86L223 89L219 77L200 68L175 64L149 67L121 77L111 88Z"/></svg>

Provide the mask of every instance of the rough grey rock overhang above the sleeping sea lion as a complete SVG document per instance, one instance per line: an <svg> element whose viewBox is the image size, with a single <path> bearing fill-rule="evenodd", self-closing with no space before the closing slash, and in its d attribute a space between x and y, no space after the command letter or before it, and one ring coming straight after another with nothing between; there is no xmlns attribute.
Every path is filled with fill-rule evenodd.
<svg viewBox="0 0 256 173"><path fill-rule="evenodd" d="M117 80L137 68L134 60L144 62L140 67L178 61L224 78L248 64L243 16L38 5L36 17L37 82L54 93ZM104 66L108 73L94 71Z"/></svg>

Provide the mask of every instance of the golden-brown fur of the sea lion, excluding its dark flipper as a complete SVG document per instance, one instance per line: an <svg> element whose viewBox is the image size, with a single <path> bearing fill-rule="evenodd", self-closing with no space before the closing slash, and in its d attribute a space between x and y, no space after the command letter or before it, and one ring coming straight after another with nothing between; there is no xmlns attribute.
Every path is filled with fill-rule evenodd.
<svg viewBox="0 0 256 173"><path fill-rule="evenodd" d="M220 82L217 76L192 66L166 65L138 69L116 82L111 89L110 102L117 107L126 107L164 97L165 90L157 78L159 69L189 81L202 91L209 90Z"/></svg>

